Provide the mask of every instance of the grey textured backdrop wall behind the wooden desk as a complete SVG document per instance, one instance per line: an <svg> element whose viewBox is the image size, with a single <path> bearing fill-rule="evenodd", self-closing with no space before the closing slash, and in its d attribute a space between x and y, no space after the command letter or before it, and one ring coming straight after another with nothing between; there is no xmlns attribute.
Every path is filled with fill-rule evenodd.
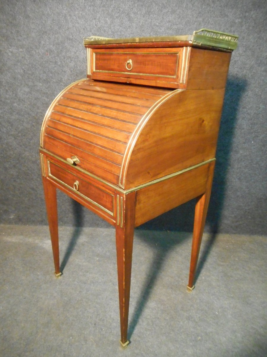
<svg viewBox="0 0 267 357"><path fill-rule="evenodd" d="M86 75L83 37L192 34L240 36L226 87L207 227L266 233L266 1L1 0L1 223L47 224L38 156L54 97ZM108 224L62 193L59 223ZM193 202L147 229L191 231Z"/></svg>

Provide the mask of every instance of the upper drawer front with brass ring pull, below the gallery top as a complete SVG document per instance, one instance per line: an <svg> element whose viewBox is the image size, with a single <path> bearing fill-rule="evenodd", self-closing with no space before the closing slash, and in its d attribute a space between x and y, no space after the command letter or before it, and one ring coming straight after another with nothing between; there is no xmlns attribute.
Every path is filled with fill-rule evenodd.
<svg viewBox="0 0 267 357"><path fill-rule="evenodd" d="M182 48L91 49L91 77L97 80L178 87Z"/></svg>

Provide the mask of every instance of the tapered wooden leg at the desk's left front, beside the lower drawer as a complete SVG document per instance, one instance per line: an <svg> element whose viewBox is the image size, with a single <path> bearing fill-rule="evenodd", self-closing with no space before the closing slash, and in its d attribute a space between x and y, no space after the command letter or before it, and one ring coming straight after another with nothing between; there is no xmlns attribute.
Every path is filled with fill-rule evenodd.
<svg viewBox="0 0 267 357"><path fill-rule="evenodd" d="M59 270L59 245L58 245L58 219L57 219L57 191L47 178L43 177L43 189L45 193L47 219L52 243L56 277L61 276Z"/></svg>

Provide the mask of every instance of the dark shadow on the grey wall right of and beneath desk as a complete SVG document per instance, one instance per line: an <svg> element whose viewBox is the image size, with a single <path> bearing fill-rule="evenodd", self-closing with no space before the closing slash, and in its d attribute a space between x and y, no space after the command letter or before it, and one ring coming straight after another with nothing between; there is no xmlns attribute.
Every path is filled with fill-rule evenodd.
<svg viewBox="0 0 267 357"><path fill-rule="evenodd" d="M247 86L245 79L229 77L225 89L223 112L218 137L216 164L213 186L206 223L210 232L217 232L220 226L221 213L224 208L224 197L227 183L232 140L235 131L237 112L242 94ZM163 215L140 226L147 230L169 230L192 232L194 224L195 200L191 200ZM138 228L137 228L138 229Z"/></svg>

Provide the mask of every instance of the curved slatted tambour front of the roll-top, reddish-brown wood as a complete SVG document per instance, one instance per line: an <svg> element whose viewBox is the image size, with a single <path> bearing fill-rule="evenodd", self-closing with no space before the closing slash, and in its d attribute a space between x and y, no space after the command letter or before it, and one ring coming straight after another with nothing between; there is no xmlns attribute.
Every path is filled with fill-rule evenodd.
<svg viewBox="0 0 267 357"><path fill-rule="evenodd" d="M118 184L124 153L137 124L169 90L81 80L58 96L47 113L41 146L77 156L79 167Z"/></svg>

